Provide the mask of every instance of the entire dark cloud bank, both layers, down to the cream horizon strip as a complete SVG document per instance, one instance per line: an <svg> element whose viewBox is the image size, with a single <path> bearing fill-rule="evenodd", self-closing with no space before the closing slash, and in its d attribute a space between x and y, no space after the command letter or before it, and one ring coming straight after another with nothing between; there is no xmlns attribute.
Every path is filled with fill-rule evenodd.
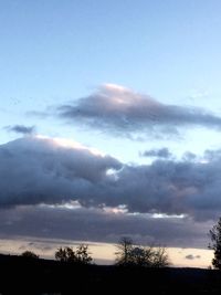
<svg viewBox="0 0 221 295"><path fill-rule="evenodd" d="M221 210L221 151L204 159L131 166L66 139L1 145L0 236L204 247Z"/></svg>

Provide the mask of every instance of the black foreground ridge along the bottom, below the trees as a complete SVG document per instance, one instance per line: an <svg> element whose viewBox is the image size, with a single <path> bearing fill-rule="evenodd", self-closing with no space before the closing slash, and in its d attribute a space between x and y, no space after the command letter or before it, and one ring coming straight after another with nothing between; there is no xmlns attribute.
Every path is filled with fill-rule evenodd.
<svg viewBox="0 0 221 295"><path fill-rule="evenodd" d="M0 255L0 294L221 294L221 272L77 265Z"/></svg>

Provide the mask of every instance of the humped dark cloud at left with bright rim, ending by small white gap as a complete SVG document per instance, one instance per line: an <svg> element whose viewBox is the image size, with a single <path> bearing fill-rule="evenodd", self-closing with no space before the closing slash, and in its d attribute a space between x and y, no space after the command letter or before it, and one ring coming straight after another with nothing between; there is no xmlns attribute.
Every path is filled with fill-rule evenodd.
<svg viewBox="0 0 221 295"><path fill-rule="evenodd" d="M24 137L0 146L0 206L90 203L122 164L77 143ZM103 183L104 182L104 183ZM13 183L13 186L11 185Z"/></svg>

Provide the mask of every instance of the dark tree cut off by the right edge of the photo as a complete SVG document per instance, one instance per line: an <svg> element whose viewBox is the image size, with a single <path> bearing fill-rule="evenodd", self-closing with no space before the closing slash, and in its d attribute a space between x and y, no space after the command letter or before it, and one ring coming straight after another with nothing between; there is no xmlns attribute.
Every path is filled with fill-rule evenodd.
<svg viewBox="0 0 221 295"><path fill-rule="evenodd" d="M212 265L214 268L221 270L221 218L218 220L218 223L212 226L209 234L211 243L208 247L214 251Z"/></svg>

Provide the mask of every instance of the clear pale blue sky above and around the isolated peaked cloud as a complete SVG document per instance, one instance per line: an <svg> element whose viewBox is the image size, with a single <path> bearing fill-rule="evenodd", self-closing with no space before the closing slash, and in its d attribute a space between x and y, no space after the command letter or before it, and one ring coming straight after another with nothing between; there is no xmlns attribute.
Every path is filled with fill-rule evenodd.
<svg viewBox="0 0 221 295"><path fill-rule="evenodd" d="M0 22L1 126L34 124L53 136L46 120L25 112L77 99L104 83L220 110L219 1L2 1ZM102 137L94 143L75 126L53 124L57 136L104 149Z"/></svg>

